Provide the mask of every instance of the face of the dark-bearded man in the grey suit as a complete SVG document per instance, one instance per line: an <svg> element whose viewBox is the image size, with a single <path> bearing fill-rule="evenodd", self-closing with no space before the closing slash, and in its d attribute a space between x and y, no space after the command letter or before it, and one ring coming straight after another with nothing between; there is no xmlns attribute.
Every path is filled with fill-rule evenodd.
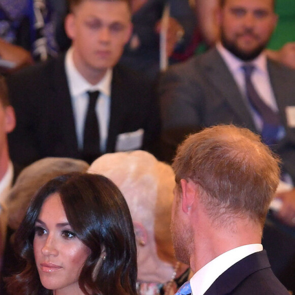
<svg viewBox="0 0 295 295"><path fill-rule="evenodd" d="M220 11L222 44L252 60L269 42L276 21L273 0L227 0Z"/></svg>

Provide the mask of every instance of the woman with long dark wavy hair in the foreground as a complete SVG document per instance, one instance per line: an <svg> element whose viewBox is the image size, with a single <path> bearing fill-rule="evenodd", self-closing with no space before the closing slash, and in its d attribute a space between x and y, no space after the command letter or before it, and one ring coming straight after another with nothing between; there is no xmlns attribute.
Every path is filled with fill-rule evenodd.
<svg viewBox="0 0 295 295"><path fill-rule="evenodd" d="M102 175L58 176L35 195L16 232L20 295L135 295L136 244L128 205Z"/></svg>

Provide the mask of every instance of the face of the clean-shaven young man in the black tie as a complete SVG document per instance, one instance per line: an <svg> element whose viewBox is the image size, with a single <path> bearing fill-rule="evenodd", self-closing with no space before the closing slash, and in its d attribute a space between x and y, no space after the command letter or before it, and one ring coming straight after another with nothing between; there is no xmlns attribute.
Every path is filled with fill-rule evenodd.
<svg viewBox="0 0 295 295"><path fill-rule="evenodd" d="M131 12L126 2L83 1L66 20L75 66L86 75L105 72L119 61L131 31Z"/></svg>

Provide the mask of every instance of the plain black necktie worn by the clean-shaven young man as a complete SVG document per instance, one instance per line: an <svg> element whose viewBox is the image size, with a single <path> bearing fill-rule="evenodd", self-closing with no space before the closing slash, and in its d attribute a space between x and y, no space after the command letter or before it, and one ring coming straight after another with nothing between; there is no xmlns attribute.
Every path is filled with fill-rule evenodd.
<svg viewBox="0 0 295 295"><path fill-rule="evenodd" d="M89 104L84 125L83 158L88 163L100 155L99 124L95 111L99 91L88 92Z"/></svg>

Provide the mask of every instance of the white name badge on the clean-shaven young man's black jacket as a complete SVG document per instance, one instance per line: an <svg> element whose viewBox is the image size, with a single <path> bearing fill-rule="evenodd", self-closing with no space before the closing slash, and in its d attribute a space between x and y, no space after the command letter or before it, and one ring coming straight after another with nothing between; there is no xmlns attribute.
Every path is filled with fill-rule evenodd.
<svg viewBox="0 0 295 295"><path fill-rule="evenodd" d="M143 134L143 129L119 134L116 140L115 152L139 150L142 146Z"/></svg>

